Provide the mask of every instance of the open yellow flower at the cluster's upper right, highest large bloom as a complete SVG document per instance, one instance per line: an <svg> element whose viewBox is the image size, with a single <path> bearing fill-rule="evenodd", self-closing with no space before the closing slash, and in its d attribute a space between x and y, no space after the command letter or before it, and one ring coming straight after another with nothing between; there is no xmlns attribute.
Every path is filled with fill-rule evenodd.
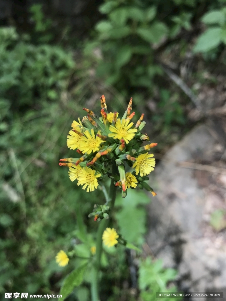
<svg viewBox="0 0 226 301"><path fill-rule="evenodd" d="M118 118L115 126L110 126L109 130L112 132L108 134L109 137L113 137L114 139L124 139L126 143L129 143L130 140L133 139L137 129L130 129L133 126L133 122L129 123L130 120Z"/></svg>

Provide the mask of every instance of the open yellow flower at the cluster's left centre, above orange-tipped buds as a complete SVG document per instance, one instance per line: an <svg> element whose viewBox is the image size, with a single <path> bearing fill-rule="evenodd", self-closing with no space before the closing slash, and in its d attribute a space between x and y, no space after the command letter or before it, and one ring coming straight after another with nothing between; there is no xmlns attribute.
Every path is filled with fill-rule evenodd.
<svg viewBox="0 0 226 301"><path fill-rule="evenodd" d="M100 134L100 131L98 134ZM106 142L99 137L95 137L93 129L91 129L91 135L89 131L85 131L84 135L85 136L82 136L78 142L78 148L83 152L83 154L87 153L89 155L92 152L95 153L96 151L99 151L100 144Z"/></svg>

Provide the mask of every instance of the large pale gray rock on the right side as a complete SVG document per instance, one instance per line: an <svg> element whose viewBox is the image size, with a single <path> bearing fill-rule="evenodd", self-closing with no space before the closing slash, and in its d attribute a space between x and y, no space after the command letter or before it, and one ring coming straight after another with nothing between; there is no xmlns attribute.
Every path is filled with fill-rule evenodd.
<svg viewBox="0 0 226 301"><path fill-rule="evenodd" d="M148 207L147 243L165 267L178 269L179 290L226 293L226 232L210 225L211 214L226 209L226 174L194 166L214 165L220 170L225 167L224 153L218 131L199 125L150 174L157 196ZM181 167L183 161L196 169Z"/></svg>

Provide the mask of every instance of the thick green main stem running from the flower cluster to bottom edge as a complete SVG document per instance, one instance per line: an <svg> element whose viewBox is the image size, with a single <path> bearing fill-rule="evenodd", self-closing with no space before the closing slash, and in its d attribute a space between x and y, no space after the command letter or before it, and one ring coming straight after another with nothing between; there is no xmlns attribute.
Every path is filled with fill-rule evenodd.
<svg viewBox="0 0 226 301"><path fill-rule="evenodd" d="M113 166L113 173L116 172L116 166ZM112 215L112 211L115 205L115 197L116 197L116 187L114 185L114 180L111 180L110 191L109 191L109 206L110 206L110 216ZM93 266L93 275L92 275L92 283L91 283L91 295L92 301L100 301L99 297L99 269L100 269L100 260L102 254L102 235L104 230L108 226L109 219L102 219L98 231L97 231L97 239L96 239L96 261Z"/></svg>

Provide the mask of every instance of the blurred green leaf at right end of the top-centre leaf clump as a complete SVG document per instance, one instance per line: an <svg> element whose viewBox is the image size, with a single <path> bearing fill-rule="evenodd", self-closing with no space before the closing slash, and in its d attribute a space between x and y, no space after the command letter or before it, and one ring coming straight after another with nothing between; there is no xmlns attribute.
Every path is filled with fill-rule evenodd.
<svg viewBox="0 0 226 301"><path fill-rule="evenodd" d="M138 28L138 35L149 43L159 43L167 35L168 28L162 22L155 22L149 28Z"/></svg>

